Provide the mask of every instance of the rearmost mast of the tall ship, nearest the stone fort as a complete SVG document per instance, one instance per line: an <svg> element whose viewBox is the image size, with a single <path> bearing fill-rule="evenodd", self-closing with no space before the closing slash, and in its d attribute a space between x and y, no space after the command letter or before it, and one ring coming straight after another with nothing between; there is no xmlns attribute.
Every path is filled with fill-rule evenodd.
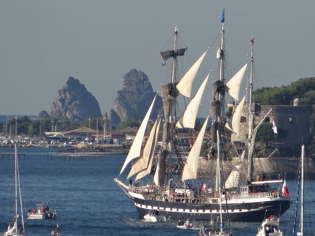
<svg viewBox="0 0 315 236"><path fill-rule="evenodd" d="M248 123L248 146L249 146L249 155L248 155L248 178L249 181L251 181L252 175L253 175L253 155L252 152L250 152L250 145L253 138L253 126L254 126L254 116L252 112L252 89L253 89L253 44L252 44L252 53L250 57L250 77L249 77L249 123ZM254 144L253 144L254 145Z"/></svg>

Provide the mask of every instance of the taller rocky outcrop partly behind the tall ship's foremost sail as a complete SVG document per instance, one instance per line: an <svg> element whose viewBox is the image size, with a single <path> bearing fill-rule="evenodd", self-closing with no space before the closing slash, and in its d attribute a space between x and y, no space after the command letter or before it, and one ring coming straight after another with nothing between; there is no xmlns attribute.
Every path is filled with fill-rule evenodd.
<svg viewBox="0 0 315 236"><path fill-rule="evenodd" d="M113 108L104 117L113 124L124 119L142 120L155 96L148 76L141 70L130 70L123 76L123 89L117 91ZM162 98L157 95L152 117L162 109Z"/></svg>

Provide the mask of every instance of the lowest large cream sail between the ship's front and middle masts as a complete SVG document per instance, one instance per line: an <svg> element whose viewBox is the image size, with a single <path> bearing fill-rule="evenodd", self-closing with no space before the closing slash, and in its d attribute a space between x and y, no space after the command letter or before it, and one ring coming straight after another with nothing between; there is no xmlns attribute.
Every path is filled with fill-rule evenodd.
<svg viewBox="0 0 315 236"><path fill-rule="evenodd" d="M192 149L190 150L185 166L181 172L181 180L187 180L187 179L197 179L197 170L198 170L198 161L200 156L200 150L203 143L203 136L204 132L206 131L206 127L208 124L209 114L206 118L206 120L203 123L203 126L199 132L198 137L196 138L196 141L194 145L192 146ZM179 176L179 177L180 177ZM177 180L178 183L179 180Z"/></svg>

